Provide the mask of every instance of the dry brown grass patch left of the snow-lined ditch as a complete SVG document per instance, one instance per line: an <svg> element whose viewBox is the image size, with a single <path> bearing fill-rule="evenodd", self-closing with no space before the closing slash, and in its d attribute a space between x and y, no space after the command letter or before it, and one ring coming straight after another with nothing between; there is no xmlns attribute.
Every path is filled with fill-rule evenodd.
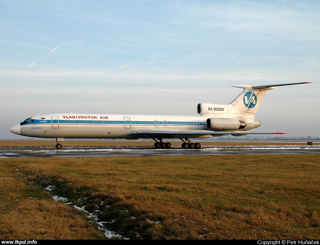
<svg viewBox="0 0 320 245"><path fill-rule="evenodd" d="M1 162L0 169L0 240L104 238L82 214L25 183L16 167Z"/></svg>

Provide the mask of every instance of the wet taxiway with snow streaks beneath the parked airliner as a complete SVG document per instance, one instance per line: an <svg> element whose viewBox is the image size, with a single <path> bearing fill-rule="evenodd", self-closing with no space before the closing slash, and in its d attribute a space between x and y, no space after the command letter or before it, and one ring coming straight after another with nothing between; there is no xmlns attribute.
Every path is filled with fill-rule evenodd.
<svg viewBox="0 0 320 245"><path fill-rule="evenodd" d="M108 156L173 156L226 154L320 154L320 146L203 146L201 149L154 147L21 147L0 148L0 158L10 157L108 157Z"/></svg>

